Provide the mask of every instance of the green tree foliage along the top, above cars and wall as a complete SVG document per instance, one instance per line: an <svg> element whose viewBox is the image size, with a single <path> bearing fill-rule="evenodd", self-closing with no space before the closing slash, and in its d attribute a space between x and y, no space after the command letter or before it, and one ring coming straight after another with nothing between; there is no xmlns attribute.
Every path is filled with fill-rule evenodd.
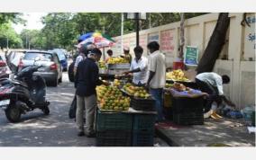
<svg viewBox="0 0 256 160"><path fill-rule="evenodd" d="M191 18L204 13L185 13ZM44 27L41 31L23 30L19 36L8 22L24 23L22 13L0 13L0 45L6 46L6 36L13 47L28 49L73 49L78 37L84 33L100 31L115 37L121 35L122 13L48 13L41 18ZM179 13L147 13L147 20L141 21L141 30L178 22ZM5 23L5 25L3 24ZM123 22L123 34L136 30L134 20Z"/></svg>

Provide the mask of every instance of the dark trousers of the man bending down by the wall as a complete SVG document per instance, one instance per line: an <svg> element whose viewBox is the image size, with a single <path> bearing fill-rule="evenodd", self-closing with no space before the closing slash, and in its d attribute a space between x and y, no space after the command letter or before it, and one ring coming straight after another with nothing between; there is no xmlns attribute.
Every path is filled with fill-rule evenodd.
<svg viewBox="0 0 256 160"><path fill-rule="evenodd" d="M204 81L201 81L196 78L196 83L198 86L198 89L201 90L204 93L208 93L209 96L206 98L204 107L205 107L205 112L210 111L212 107L213 102L217 102L217 104L221 101L221 97L219 96L219 92L217 87L215 87L212 84L208 84Z"/></svg>

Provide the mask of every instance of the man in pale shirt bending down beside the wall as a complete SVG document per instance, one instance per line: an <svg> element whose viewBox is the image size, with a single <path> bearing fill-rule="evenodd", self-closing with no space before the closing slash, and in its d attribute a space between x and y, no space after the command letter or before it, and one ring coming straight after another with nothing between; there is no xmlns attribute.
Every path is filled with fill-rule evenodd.
<svg viewBox="0 0 256 160"><path fill-rule="evenodd" d="M196 76L196 83L198 88L205 93L208 93L208 100L206 102L205 112L211 109L213 102L218 105L221 102L226 102L230 106L234 106L233 102L227 100L224 96L223 84L229 84L229 76L219 76L214 72L205 72Z"/></svg>

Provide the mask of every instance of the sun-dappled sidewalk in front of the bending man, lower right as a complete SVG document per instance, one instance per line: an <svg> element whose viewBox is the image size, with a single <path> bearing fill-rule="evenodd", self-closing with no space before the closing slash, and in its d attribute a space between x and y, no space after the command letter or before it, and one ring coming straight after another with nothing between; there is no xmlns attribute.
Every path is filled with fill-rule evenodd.
<svg viewBox="0 0 256 160"><path fill-rule="evenodd" d="M173 122L156 125L156 132L172 147L207 147L224 144L231 147L255 147L255 134L238 120L205 119L204 125L180 126Z"/></svg>

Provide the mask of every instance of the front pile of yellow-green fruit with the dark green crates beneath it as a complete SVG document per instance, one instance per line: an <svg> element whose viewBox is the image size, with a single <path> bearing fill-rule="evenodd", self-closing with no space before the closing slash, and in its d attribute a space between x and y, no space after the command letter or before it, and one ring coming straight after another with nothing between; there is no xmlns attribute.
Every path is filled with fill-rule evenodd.
<svg viewBox="0 0 256 160"><path fill-rule="evenodd" d="M152 147L157 112L134 110L133 97L122 93L119 85L115 80L112 86L96 88L96 146Z"/></svg>

